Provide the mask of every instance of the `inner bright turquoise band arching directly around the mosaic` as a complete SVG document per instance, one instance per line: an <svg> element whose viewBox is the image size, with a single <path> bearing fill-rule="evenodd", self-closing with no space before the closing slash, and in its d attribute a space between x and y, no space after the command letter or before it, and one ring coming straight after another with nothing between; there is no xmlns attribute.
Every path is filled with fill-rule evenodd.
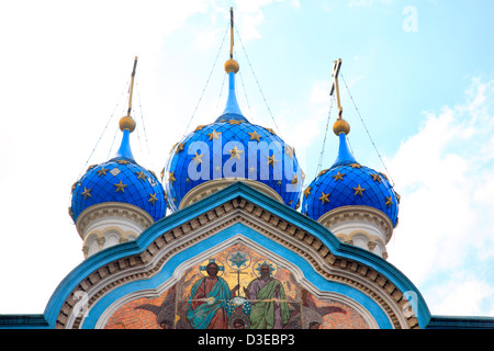
<svg viewBox="0 0 494 351"><path fill-rule="evenodd" d="M104 313L104 310L106 310L106 308L110 307L110 305L114 301L122 298L135 291L144 288L146 290L157 288L164 282L169 280L172 276L176 269L184 261L198 254L201 254L202 252L210 250L217 245L221 245L225 240L232 239L234 236L238 234L257 242L261 247L268 248L271 252L274 252L279 257L292 262L294 265L296 265L299 269L303 271L305 279L314 286L318 287L321 291L329 291L348 296L353 301L356 301L357 303L359 303L360 305L362 305L363 307L366 307L369 310L369 313L374 317L375 321L378 322L381 329L392 328L392 325L388 319L385 313L378 306L378 304L375 304L366 294L359 292L353 287L340 283L328 282L323 276L317 274L314 271L314 269L310 265L310 263L300 256L297 256L296 253L270 240L269 238L265 237L258 231L248 228L243 224L237 223L222 230L221 233L217 233L216 235L207 239L204 239L199 244L195 244L191 248L177 253L165 264L161 271L155 274L153 278L145 281L131 282L109 292L91 308L91 312L85 319L82 329L94 329L100 316Z"/></svg>

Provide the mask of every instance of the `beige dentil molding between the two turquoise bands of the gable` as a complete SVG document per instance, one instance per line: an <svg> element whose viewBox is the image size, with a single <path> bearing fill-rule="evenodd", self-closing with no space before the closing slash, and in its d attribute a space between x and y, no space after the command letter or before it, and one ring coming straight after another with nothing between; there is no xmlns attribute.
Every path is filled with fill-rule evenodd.
<svg viewBox="0 0 494 351"><path fill-rule="evenodd" d="M225 217L227 220L221 220ZM256 220L252 222L249 217L256 218ZM328 281L346 284L367 294L381 306L393 328L419 328L414 314L404 316L403 310L407 306L408 299L386 276L361 262L335 256L314 235L242 196L227 201L162 233L141 253L109 262L91 272L64 302L55 327L78 329L81 326L82 317L72 316L78 302L77 296L80 296L81 293L88 294L88 308L90 309L108 292L131 281L154 275L162 269L169 258L179 251L235 223L246 224L297 253ZM270 228L270 230L266 228Z"/></svg>

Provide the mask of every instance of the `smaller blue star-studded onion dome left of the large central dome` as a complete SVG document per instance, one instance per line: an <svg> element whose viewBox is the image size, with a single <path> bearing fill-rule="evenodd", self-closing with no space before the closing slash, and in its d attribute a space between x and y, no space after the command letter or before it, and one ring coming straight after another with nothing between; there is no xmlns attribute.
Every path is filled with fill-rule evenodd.
<svg viewBox="0 0 494 351"><path fill-rule="evenodd" d="M86 208L109 202L137 206L155 222L166 214L161 183L153 171L139 166L132 155L130 135L135 128L134 120L124 116L120 121L120 128L123 136L116 155L106 162L89 167L72 185L69 214L74 223Z"/></svg>

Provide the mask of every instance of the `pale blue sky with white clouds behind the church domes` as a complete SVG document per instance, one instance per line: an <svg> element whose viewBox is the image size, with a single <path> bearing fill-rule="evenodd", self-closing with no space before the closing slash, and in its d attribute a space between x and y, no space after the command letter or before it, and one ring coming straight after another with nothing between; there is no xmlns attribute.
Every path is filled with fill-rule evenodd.
<svg viewBox="0 0 494 351"><path fill-rule="evenodd" d="M351 149L402 200L389 262L433 315L494 316L490 0L1 2L0 314L43 313L82 262L70 188L116 151L135 56L142 166L159 174L175 143L223 111L231 5L246 117L295 147L307 185L341 58ZM336 150L329 129L323 167Z"/></svg>

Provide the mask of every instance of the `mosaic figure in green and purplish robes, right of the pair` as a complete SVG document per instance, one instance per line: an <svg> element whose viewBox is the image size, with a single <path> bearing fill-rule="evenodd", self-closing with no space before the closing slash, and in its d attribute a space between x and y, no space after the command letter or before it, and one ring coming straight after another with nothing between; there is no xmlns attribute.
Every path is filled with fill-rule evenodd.
<svg viewBox="0 0 494 351"><path fill-rule="evenodd" d="M290 319L287 296L281 282L271 276L268 263L260 265L260 276L244 288L252 303L250 329L282 329Z"/></svg>

